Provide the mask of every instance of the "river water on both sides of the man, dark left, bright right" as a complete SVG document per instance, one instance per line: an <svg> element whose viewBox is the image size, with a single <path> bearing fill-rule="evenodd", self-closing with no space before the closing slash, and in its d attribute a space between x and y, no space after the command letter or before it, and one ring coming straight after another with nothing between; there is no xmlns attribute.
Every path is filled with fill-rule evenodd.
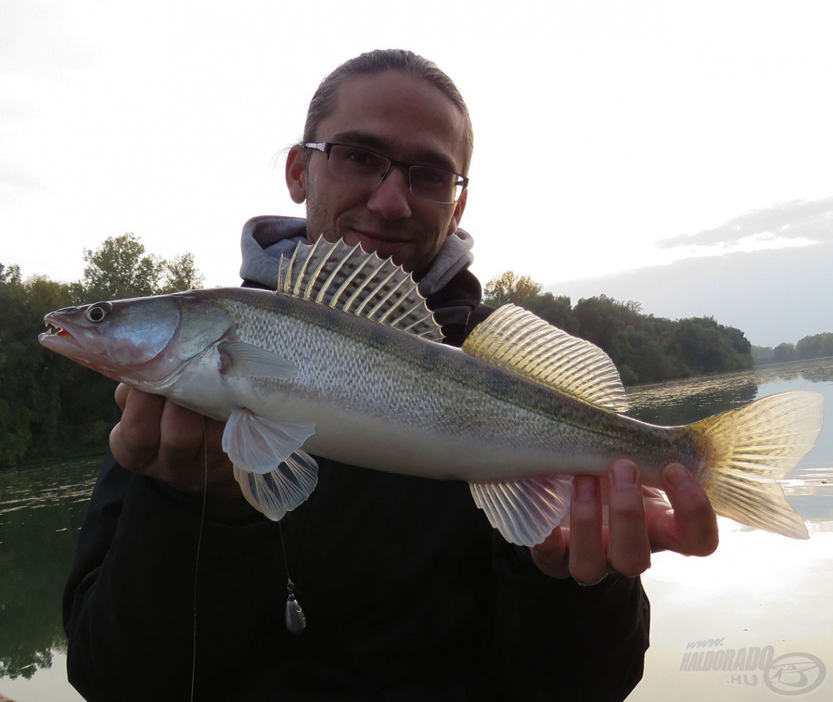
<svg viewBox="0 0 833 702"><path fill-rule="evenodd" d="M681 424L789 390L820 392L833 416L833 359L640 386L629 396L634 416ZM0 472L0 695L17 702L81 700L66 681L60 608L96 470L97 461L86 461ZM833 420L785 481L810 540L721 519L721 545L714 555L654 556L643 576L651 598L651 649L631 702L779 700L796 691L806 692L808 700L831 699L831 475ZM712 664L722 651L718 669L730 651L736 665L741 650L741 670L714 670L715 665L680 670L684 660L702 664L710 651ZM781 661L761 670L759 660L754 670L745 670L761 651L766 663L767 656ZM816 661L826 667L826 680L811 689L821 680Z"/></svg>

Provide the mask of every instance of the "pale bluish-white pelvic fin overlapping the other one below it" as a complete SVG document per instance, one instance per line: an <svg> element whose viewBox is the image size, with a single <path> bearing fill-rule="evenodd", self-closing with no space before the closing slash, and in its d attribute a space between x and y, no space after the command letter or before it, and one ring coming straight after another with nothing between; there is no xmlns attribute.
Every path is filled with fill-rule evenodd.
<svg viewBox="0 0 833 702"><path fill-rule="evenodd" d="M277 421L235 407L222 434L222 450L240 470L268 473L300 449L314 431L314 424Z"/></svg>

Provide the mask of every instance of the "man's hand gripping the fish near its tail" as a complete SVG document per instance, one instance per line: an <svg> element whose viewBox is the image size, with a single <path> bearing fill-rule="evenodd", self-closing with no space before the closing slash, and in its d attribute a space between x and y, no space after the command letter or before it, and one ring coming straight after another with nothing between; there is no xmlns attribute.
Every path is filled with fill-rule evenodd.
<svg viewBox="0 0 833 702"><path fill-rule="evenodd" d="M662 470L671 505L660 490L640 484L631 461L615 461L604 479L576 475L574 484L569 520L531 548L532 559L547 575L572 575L582 585L594 585L609 572L644 573L658 550L709 555L717 548L709 498L680 464Z"/></svg>

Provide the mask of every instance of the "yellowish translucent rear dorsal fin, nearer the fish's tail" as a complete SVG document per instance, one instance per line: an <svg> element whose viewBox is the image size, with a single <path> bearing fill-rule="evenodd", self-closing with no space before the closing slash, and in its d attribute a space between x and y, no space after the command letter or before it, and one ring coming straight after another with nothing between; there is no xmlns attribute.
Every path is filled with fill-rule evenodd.
<svg viewBox="0 0 833 702"><path fill-rule="evenodd" d="M521 307L504 305L481 321L463 351L608 410L627 410L610 356Z"/></svg>

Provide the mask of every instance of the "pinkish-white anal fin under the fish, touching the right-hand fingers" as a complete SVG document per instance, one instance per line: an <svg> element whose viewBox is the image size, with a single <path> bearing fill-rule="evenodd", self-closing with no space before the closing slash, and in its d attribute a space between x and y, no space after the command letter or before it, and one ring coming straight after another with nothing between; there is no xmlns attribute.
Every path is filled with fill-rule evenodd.
<svg viewBox="0 0 833 702"><path fill-rule="evenodd" d="M504 539L521 546L540 544L570 506L572 475L507 482L470 483L475 504Z"/></svg>

